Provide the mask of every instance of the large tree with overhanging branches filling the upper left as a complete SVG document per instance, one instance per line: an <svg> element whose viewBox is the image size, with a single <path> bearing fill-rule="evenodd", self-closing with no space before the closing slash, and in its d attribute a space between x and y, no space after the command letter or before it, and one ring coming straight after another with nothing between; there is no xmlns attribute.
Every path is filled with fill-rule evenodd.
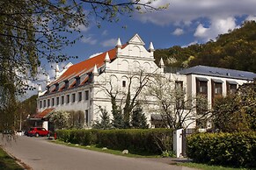
<svg viewBox="0 0 256 170"><path fill-rule="evenodd" d="M36 79L42 60L60 62L76 57L66 56L62 49L76 42L69 35L88 26L93 20L90 18L100 25L101 20L117 22L120 14L165 8L140 0L2 0L0 6L1 110L10 107L27 89L33 89L27 81ZM9 113L9 118L2 115L4 122L13 124L15 114Z"/></svg>

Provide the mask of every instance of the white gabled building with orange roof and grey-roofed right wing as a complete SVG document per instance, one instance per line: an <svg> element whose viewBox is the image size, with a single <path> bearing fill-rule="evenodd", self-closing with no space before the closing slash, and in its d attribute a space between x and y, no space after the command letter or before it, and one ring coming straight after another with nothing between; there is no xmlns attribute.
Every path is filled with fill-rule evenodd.
<svg viewBox="0 0 256 170"><path fill-rule="evenodd" d="M62 71L57 66L55 80L48 78L47 90L39 88L38 114L33 118L46 120L43 125L48 128L47 117L53 110L81 110L84 112L84 125L91 127L99 119L99 106L111 113L112 104L106 89L113 89L113 93L118 91L117 98L121 103L121 92L127 91L130 80L131 94L134 94L142 76L149 74L172 75L181 82L188 94L207 93L209 103L213 96L224 96L228 91L237 89L238 85L256 77L253 73L202 66L191 67L178 74L165 73L163 60L159 63L160 67L155 63L153 44L150 43L149 49L144 46L143 40L135 34L124 45L118 39L116 46L106 53L74 65L69 63ZM143 101L154 104L150 97ZM146 113L149 123L150 115Z"/></svg>

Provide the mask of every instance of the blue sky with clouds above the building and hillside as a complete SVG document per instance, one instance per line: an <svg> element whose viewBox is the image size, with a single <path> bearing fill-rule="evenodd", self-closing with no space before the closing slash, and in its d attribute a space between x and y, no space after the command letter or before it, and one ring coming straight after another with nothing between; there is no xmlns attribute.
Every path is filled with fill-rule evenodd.
<svg viewBox="0 0 256 170"><path fill-rule="evenodd" d="M77 55L78 59L69 60L75 64L92 54L112 49L118 38L121 43L126 43L135 33L141 36L146 48L150 41L155 49L189 46L214 40L218 34L240 27L245 20L256 20L256 0L157 0L152 5L164 4L170 4L164 11L133 13L131 18L120 16L120 22L101 22L100 28L93 22L88 27L81 26L84 38L74 46L67 46L63 53ZM59 63L60 69L69 61ZM54 77L55 72L50 66L55 67L55 63L45 65L50 77ZM46 79L44 75L39 77ZM44 89L45 83L40 83ZM36 82L31 84L37 88ZM28 92L26 96L36 93L36 90Z"/></svg>

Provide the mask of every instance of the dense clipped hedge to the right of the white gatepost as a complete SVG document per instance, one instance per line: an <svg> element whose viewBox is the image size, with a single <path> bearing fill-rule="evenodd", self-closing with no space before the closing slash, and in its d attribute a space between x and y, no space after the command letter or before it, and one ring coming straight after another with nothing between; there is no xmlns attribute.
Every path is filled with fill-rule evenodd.
<svg viewBox="0 0 256 170"><path fill-rule="evenodd" d="M199 133L188 138L187 156L222 166L256 166L256 131Z"/></svg>

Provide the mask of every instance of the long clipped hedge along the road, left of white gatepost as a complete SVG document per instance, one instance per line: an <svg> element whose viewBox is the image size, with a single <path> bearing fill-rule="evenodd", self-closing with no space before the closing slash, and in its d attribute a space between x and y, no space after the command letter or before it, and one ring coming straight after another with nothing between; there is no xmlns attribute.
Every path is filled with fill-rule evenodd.
<svg viewBox="0 0 256 170"><path fill-rule="evenodd" d="M170 129L59 130L56 133L58 139L72 144L152 154L172 150Z"/></svg>

